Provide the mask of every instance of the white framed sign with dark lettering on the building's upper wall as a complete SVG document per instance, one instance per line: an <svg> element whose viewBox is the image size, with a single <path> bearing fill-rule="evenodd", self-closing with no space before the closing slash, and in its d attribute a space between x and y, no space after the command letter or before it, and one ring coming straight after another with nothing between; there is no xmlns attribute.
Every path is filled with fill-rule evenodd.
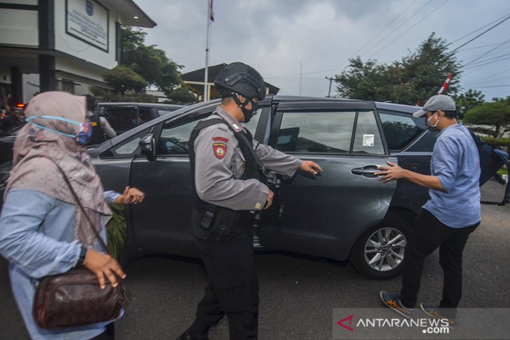
<svg viewBox="0 0 510 340"><path fill-rule="evenodd" d="M66 34L108 52L108 9L95 0L66 0Z"/></svg>

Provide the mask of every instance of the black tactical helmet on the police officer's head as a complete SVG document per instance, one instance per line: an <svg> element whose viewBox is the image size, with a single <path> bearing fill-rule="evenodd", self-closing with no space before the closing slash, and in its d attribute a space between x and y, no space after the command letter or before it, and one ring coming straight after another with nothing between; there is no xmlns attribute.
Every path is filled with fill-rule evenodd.
<svg viewBox="0 0 510 340"><path fill-rule="evenodd" d="M214 86L221 96L231 96L231 92L261 101L265 97L265 83L260 73L247 64L228 64L219 71Z"/></svg>

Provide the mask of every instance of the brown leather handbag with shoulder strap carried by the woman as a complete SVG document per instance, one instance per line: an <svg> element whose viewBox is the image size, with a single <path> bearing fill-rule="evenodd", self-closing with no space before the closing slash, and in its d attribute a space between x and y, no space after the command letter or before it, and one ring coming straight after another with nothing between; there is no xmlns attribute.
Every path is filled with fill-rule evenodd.
<svg viewBox="0 0 510 340"><path fill-rule="evenodd" d="M85 209L64 171L60 168L59 170L85 214ZM92 228L89 216L85 216ZM99 232L95 228L92 230L106 249ZM64 274L45 276L38 284L34 296L36 323L41 328L51 330L103 323L118 318L129 294L122 279L119 276L116 279L117 287L112 287L110 281L105 280L105 288L101 289L96 274L86 267L75 267Z"/></svg>

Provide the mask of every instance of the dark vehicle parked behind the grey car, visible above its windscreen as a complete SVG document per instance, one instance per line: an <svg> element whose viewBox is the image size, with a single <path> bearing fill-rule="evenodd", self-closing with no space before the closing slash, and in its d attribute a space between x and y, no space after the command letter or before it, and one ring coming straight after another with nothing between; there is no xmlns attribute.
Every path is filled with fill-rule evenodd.
<svg viewBox="0 0 510 340"><path fill-rule="evenodd" d="M183 105L156 103L98 103L96 114L105 117L119 135L182 107Z"/></svg>

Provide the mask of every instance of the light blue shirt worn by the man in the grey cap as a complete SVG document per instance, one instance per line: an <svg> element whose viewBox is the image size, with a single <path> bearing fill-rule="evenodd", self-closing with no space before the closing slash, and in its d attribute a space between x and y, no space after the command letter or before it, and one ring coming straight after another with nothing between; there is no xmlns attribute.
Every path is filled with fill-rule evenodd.
<svg viewBox="0 0 510 340"><path fill-rule="evenodd" d="M451 228L480 221L480 158L467 128L451 125L437 135L430 175L439 179L446 192L430 189L424 209Z"/></svg>

